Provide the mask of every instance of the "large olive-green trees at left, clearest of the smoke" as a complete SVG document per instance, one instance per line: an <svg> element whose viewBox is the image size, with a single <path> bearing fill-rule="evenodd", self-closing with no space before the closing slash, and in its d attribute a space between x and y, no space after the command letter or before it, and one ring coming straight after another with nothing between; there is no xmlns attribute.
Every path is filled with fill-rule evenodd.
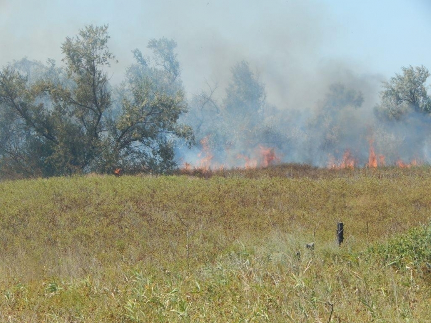
<svg viewBox="0 0 431 323"><path fill-rule="evenodd" d="M108 39L107 26L93 25L67 37L61 47L65 67L51 62L49 72L34 83L10 65L3 68L3 164L15 167L19 162L17 170L43 176L111 172L116 167L160 172L175 166L175 138L193 140L190 128L177 124L187 111L184 93L158 89L155 77L128 77L128 91L114 106L106 69L115 57ZM152 71L166 76L156 67Z"/></svg>

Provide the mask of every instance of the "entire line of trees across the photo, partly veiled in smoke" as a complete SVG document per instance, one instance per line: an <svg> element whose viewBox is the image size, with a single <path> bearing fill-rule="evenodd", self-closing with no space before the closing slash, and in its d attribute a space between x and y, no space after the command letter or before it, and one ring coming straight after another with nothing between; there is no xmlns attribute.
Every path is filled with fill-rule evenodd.
<svg viewBox="0 0 431 323"><path fill-rule="evenodd" d="M214 165L241 166L264 146L277 149L285 162L325 166L329 154L351 147L359 147L357 158L365 160L364 141L375 140L394 159L400 151L392 146L413 155L429 137L431 97L424 66L403 67L383 83L374 116L384 130L370 139L365 128L375 125L356 125L364 94L341 83L330 85L313 113L305 115L300 108L268 104L265 85L242 61L232 67L224 95L208 84L188 101L174 41L152 39L149 57L135 49L135 63L121 85L113 86L106 72L115 61L108 40L107 26L86 26L61 45L64 66L23 59L3 67L0 177L116 169L168 173L193 162L188 148L194 145L196 151L210 150ZM395 128L403 133L394 133Z"/></svg>

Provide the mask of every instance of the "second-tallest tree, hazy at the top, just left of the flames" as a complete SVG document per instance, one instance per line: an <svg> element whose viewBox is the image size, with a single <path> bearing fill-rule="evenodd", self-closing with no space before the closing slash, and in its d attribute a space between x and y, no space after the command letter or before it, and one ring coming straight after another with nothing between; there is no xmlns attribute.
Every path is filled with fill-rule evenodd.
<svg viewBox="0 0 431 323"><path fill-rule="evenodd" d="M151 39L152 59L135 49L136 60L126 72L121 113L115 123L114 138L123 167L144 167L165 172L176 166L177 139L194 143L191 127L179 118L188 111L179 75L181 70L172 39ZM141 165L141 166L139 166Z"/></svg>

